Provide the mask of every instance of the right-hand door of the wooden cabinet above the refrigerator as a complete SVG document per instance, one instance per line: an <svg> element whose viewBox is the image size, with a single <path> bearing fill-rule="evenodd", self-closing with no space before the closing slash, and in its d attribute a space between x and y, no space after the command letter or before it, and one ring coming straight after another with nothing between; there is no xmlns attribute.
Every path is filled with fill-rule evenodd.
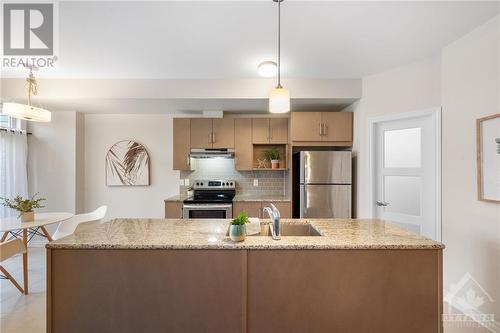
<svg viewBox="0 0 500 333"><path fill-rule="evenodd" d="M352 141L352 112L323 112L323 141Z"/></svg>

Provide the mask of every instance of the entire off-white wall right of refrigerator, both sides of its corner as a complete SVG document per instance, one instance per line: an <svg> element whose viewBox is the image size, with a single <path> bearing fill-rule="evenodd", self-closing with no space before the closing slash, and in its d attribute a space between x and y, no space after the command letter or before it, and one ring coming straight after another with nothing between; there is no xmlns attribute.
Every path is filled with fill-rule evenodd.
<svg viewBox="0 0 500 333"><path fill-rule="evenodd" d="M470 273L495 299L481 311L500 318L500 205L477 200L479 117L500 112L500 18L445 47L434 57L363 79L355 108L357 216L370 214L368 119L443 107L442 238L444 286Z"/></svg>

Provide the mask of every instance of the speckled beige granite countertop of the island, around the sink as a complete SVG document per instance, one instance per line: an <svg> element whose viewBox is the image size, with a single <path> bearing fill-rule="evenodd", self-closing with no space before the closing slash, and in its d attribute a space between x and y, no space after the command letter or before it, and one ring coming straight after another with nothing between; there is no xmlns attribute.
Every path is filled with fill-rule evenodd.
<svg viewBox="0 0 500 333"><path fill-rule="evenodd" d="M268 221L262 220L261 224ZM283 219L310 223L322 236L226 236L229 220L114 219L50 242L68 249L442 249L444 245L381 220Z"/></svg>

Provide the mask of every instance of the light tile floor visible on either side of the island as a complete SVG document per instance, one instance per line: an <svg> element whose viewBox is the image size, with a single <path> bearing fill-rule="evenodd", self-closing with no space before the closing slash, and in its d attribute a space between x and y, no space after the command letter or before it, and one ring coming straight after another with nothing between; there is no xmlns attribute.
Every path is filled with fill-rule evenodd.
<svg viewBox="0 0 500 333"><path fill-rule="evenodd" d="M29 248L29 295L22 295L9 281L0 282L0 333L43 333L45 327L45 248ZM22 257L2 265L22 285ZM445 328L445 333L487 333L477 327ZM147 332L145 332L147 333Z"/></svg>

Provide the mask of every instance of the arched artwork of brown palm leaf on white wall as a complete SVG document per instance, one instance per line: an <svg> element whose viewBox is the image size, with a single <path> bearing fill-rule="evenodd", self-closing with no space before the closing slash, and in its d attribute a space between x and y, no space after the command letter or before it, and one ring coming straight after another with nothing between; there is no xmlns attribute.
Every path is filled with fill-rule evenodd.
<svg viewBox="0 0 500 333"><path fill-rule="evenodd" d="M106 154L107 186L149 185L149 153L142 144L124 140Z"/></svg>

